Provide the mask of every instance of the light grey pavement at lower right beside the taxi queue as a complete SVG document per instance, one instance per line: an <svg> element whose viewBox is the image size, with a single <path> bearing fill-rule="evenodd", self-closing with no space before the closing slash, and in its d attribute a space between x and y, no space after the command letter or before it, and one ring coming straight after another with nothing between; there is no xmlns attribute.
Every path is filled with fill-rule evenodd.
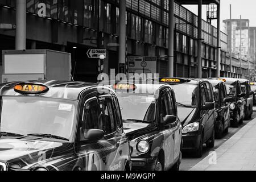
<svg viewBox="0 0 256 182"><path fill-rule="evenodd" d="M256 171L256 118L190 171Z"/></svg>

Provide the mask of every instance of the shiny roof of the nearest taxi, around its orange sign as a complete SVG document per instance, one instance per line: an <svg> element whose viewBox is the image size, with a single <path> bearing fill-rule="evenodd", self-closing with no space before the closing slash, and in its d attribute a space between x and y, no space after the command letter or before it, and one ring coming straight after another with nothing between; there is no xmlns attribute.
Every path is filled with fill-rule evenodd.
<svg viewBox="0 0 256 182"><path fill-rule="evenodd" d="M22 96L14 91L14 86L23 82L10 82L7 84L0 84L0 96ZM98 86L89 82L75 82L75 81L27 81L31 84L44 84L48 86L49 91L39 96L49 98L63 98L68 100L79 100L80 93L86 89Z"/></svg>

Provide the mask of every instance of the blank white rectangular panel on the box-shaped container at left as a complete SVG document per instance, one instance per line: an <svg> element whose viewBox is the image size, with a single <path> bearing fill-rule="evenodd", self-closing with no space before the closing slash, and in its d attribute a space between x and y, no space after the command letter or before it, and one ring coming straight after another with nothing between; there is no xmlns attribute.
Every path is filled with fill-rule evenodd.
<svg viewBox="0 0 256 182"><path fill-rule="evenodd" d="M5 55L5 74L44 73L44 54Z"/></svg>

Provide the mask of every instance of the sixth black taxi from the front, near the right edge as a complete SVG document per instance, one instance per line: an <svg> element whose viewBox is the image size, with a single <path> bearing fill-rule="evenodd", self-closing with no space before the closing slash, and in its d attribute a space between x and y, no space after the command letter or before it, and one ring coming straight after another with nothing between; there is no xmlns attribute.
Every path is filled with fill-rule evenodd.
<svg viewBox="0 0 256 182"><path fill-rule="evenodd" d="M245 100L245 119L250 119L253 115L253 96L254 92L251 92L250 81L246 79L238 79L241 82L242 93L245 93L243 99Z"/></svg>

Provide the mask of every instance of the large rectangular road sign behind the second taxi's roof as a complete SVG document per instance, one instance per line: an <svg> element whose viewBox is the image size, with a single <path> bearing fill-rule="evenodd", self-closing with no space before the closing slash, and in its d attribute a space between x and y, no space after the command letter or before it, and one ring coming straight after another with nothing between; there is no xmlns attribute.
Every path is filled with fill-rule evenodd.
<svg viewBox="0 0 256 182"><path fill-rule="evenodd" d="M156 73L156 57L128 57L129 73Z"/></svg>

